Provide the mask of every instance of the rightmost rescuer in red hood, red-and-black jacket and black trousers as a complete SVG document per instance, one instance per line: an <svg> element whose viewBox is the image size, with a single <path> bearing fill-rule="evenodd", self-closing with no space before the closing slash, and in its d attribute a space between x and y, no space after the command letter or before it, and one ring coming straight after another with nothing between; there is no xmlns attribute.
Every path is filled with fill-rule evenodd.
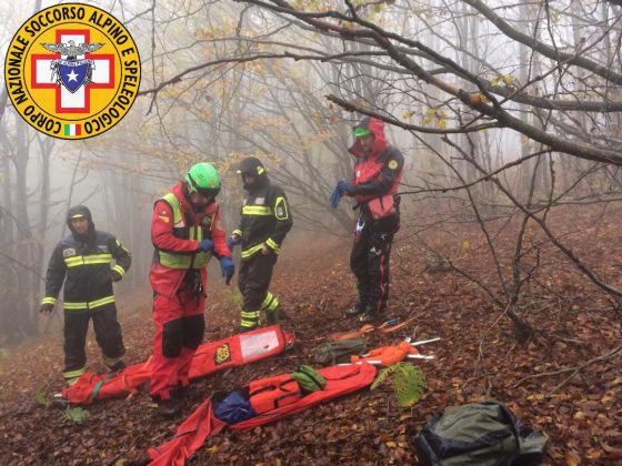
<svg viewBox="0 0 622 466"><path fill-rule="evenodd" d="M384 136L384 123L364 118L354 126L354 179L340 181L331 196L337 207L342 195L355 197L360 215L354 230L350 269L357 276L359 302L345 313L363 323L378 320L389 298L389 259L393 235L400 227L395 195L404 158Z"/></svg>

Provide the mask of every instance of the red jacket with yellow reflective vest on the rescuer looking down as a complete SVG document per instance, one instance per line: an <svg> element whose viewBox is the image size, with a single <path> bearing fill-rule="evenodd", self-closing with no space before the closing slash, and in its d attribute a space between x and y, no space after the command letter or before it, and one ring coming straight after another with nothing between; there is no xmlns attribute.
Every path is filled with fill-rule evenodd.
<svg viewBox="0 0 622 466"><path fill-rule="evenodd" d="M177 292L189 269L199 270L201 281L205 283L205 265L212 254L198 251L201 240L214 242L217 259L231 256L218 203L212 202L194 212L183 193L184 186L185 183L180 182L158 200L151 217L151 241L156 247L151 285L153 291L167 296Z"/></svg>

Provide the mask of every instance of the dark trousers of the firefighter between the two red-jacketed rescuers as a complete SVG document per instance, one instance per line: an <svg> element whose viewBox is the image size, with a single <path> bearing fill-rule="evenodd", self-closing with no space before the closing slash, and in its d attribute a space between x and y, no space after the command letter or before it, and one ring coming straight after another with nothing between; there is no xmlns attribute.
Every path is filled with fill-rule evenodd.
<svg viewBox="0 0 622 466"><path fill-rule="evenodd" d="M251 330L260 324L260 311L273 310L279 301L268 291L272 280L272 270L277 263L277 254L257 253L242 261L238 286L242 293L242 330Z"/></svg>

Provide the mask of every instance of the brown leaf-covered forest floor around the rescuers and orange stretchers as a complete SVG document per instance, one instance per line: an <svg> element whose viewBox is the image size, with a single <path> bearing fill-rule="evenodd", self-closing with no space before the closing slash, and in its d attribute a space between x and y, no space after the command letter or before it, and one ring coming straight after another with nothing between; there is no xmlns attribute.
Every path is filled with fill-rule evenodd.
<svg viewBox="0 0 622 466"><path fill-rule="evenodd" d="M620 212L605 217L568 213L554 222L556 233L572 225L574 232L563 234L563 240L618 287L622 287L622 269L616 267L622 262L620 217ZM428 381L423 398L412 408L400 408L390 384L383 384L252 432L225 430L209 439L192 464L417 464L411 440L428 419L448 406L486 398L503 402L549 437L545 464L622 464L622 357L618 353L592 361L621 344L621 313L543 241L538 229L531 229L524 271L536 262L539 267L523 290L520 313L536 333L526 342L516 340L502 310L473 283L455 272L422 272L429 254L404 227L394 249L388 316L414 318L397 333L370 336L370 343L442 337L422 351L437 356L419 363ZM506 227L494 237L504 273L514 254L513 232ZM453 236L431 232L425 241L499 292L495 267L475 229L461 225ZM311 239L300 249L288 247L272 290L287 307L291 320L284 327L295 332L298 344L279 357L197 382L184 402L184 415L215 391L291 372L308 363L331 332L358 328L342 316L354 300L349 242ZM228 336L238 325L237 296L221 286L220 276L214 281L205 341ZM148 290L122 300L121 321L127 361L144 361L153 330ZM103 372L91 336L88 354L88 368ZM564 371L574 367L575 374ZM88 417L81 423L67 418L49 404L50 395L61 388L60 335L3 348L0 369L1 464L142 465L148 463L146 449L171 437L182 421L160 419L147 395L87 407Z"/></svg>

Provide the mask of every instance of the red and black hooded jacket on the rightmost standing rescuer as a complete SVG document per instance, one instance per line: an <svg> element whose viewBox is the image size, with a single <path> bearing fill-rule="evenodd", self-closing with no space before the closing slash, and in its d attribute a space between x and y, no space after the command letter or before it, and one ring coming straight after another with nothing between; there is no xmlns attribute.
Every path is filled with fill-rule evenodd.
<svg viewBox="0 0 622 466"><path fill-rule="evenodd" d="M363 152L359 140L350 148L355 158L352 193L364 210L370 200L398 192L404 158L387 141L382 120L365 118L357 126L370 130L375 138L371 154Z"/></svg>

